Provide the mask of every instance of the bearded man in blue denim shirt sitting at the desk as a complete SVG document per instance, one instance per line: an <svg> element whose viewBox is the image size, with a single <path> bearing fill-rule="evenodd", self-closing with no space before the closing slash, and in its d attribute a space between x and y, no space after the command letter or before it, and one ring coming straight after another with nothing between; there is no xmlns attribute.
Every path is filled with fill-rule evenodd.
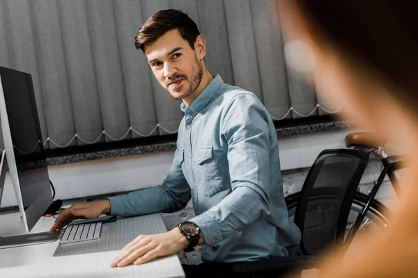
<svg viewBox="0 0 418 278"><path fill-rule="evenodd" d="M219 75L212 77L204 60L205 38L178 10L151 16L139 28L135 47L144 51L171 97L183 100L185 117L167 179L154 188L75 204L59 215L51 231L101 213L173 213L192 199L196 217L164 234L138 236L111 266L146 263L195 245L203 245L201 257L209 263L295 253L300 231L288 219L277 134L261 101Z"/></svg>

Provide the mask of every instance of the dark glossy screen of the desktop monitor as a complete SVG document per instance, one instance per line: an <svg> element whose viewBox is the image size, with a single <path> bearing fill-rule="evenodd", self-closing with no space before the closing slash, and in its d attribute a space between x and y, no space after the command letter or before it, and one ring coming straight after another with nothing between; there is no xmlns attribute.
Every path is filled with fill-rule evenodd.
<svg viewBox="0 0 418 278"><path fill-rule="evenodd" d="M33 83L30 74L6 67L0 67L0 77L20 192L26 211L42 194L45 195L45 190L48 190L50 195ZM8 163L10 165L10 161Z"/></svg>

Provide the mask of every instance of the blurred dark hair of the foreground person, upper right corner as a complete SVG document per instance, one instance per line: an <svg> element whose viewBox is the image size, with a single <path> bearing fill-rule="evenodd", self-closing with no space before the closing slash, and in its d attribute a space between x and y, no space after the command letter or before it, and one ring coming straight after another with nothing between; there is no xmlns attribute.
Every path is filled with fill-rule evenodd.
<svg viewBox="0 0 418 278"><path fill-rule="evenodd" d="M392 97L418 115L418 9L415 1L291 0L311 33L343 57L377 72ZM396 86L396 87L394 87ZM400 90L399 90L400 89Z"/></svg>

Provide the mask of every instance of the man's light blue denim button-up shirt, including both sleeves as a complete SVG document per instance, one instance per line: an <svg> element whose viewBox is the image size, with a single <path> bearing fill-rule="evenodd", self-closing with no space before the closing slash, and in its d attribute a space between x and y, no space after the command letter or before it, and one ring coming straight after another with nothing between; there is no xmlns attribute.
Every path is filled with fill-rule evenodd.
<svg viewBox="0 0 418 278"><path fill-rule="evenodd" d="M186 107L177 149L161 186L109 197L111 214L172 213L192 198L205 245L203 261L288 256L300 231L288 219L277 133L251 92L218 75Z"/></svg>

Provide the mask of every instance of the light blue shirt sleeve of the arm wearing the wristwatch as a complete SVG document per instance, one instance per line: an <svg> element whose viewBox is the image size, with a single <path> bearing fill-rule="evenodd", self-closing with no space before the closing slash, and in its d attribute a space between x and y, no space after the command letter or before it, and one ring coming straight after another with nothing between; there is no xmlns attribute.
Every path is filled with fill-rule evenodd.
<svg viewBox="0 0 418 278"><path fill-rule="evenodd" d="M228 147L232 193L192 220L206 244L219 243L270 214L270 115L252 94L235 95L221 132ZM274 138L274 137L272 137ZM279 169L278 169L279 171Z"/></svg>

